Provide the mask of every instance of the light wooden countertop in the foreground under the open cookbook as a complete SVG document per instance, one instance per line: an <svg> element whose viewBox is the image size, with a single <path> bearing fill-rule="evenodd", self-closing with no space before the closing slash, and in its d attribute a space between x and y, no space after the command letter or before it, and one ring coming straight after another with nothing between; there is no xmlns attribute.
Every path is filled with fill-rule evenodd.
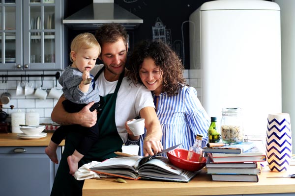
<svg viewBox="0 0 295 196"><path fill-rule="evenodd" d="M259 175L259 182L217 182L203 169L188 183L148 180L114 182L115 178L85 180L83 196L212 196L241 194L295 193L295 178L266 178L295 173L295 166L287 172L270 172L268 166Z"/></svg>

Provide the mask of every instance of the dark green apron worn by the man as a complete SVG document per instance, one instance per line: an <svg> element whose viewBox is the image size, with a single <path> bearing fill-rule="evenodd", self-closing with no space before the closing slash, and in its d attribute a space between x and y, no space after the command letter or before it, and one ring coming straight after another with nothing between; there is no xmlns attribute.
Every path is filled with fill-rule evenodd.
<svg viewBox="0 0 295 196"><path fill-rule="evenodd" d="M103 73L101 69L98 75ZM123 144L115 122L116 99L124 73L121 73L114 94L105 97L100 96L101 110L97 119L99 124L99 139L89 152L79 162L79 167L91 161L103 161L117 156L115 151L122 151ZM65 140L65 147L59 163L59 169L52 187L51 196L82 196L84 180L78 181L69 174L67 157L72 155L74 150L81 143L83 133L79 130L70 131Z"/></svg>

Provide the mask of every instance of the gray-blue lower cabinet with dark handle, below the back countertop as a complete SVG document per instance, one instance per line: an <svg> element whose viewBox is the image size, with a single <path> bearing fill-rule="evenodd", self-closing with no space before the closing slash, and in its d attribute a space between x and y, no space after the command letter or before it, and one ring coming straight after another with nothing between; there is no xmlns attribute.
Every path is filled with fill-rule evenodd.
<svg viewBox="0 0 295 196"><path fill-rule="evenodd" d="M0 196L49 196L59 167L45 147L0 147ZM61 158L61 147L57 150Z"/></svg>

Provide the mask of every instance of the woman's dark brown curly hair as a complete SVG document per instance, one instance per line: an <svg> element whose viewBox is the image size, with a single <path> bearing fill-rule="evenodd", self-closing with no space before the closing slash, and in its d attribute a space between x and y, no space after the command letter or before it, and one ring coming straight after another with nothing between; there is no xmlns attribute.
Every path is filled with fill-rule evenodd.
<svg viewBox="0 0 295 196"><path fill-rule="evenodd" d="M145 58L152 58L160 68L163 77L162 92L168 96L177 95L179 89L185 85L183 78L184 67L181 60L167 44L162 41L144 40L137 44L129 59L129 79L136 84L143 84L139 70Z"/></svg>

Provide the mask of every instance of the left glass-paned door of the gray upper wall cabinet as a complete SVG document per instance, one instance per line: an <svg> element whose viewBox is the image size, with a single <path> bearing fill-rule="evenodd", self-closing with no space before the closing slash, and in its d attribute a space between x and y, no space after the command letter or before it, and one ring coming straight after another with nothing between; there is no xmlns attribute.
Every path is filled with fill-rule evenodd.
<svg viewBox="0 0 295 196"><path fill-rule="evenodd" d="M0 70L15 69L22 61L21 1L0 0Z"/></svg>

